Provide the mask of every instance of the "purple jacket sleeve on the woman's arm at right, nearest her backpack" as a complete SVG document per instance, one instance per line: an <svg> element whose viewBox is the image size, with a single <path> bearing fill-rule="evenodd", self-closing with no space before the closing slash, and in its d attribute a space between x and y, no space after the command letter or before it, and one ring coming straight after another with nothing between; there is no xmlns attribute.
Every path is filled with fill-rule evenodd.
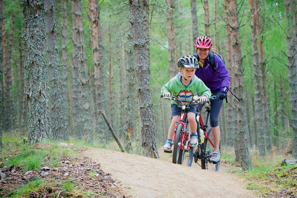
<svg viewBox="0 0 297 198"><path fill-rule="evenodd" d="M223 63L223 61L217 56L214 55L214 62L215 62L215 66L216 66L216 73L219 76L219 78L222 79L222 85L221 85L221 91L224 92L228 92L229 90L229 85L230 85L230 76L229 76L229 72L225 66L225 64Z"/></svg>

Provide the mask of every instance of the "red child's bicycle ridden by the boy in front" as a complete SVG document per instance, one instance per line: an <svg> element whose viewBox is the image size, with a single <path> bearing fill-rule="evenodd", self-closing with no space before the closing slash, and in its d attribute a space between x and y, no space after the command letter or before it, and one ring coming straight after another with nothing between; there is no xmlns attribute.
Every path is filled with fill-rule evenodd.
<svg viewBox="0 0 297 198"><path fill-rule="evenodd" d="M161 94L161 98L163 94ZM192 164L194 148L190 146L189 141L189 131L187 130L188 125L188 117L186 114L186 110L190 109L190 105L196 104L199 102L200 97L193 97L193 100L181 100L177 97L170 96L164 97L166 99L175 100L178 103L178 108L181 109L180 120L176 122L173 134L173 152L172 151L164 151L173 153L172 162L174 164L184 164L189 166L189 162ZM198 126L198 125L197 125ZM191 166L191 165L190 165Z"/></svg>

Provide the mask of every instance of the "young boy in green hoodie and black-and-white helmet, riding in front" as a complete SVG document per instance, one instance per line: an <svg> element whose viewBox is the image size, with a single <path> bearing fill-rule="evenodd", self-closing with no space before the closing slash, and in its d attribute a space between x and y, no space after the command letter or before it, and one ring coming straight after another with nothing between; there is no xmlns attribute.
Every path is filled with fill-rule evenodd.
<svg viewBox="0 0 297 198"><path fill-rule="evenodd" d="M211 96L210 89L195 75L196 68L199 68L199 62L194 56L182 56L178 59L177 65L179 67L178 74L173 77L168 83L163 85L161 93L163 97L176 96L181 100L191 101L195 93L199 92L201 95L200 103L204 103ZM194 93L194 94L193 94ZM175 123L179 121L181 109L177 107L177 103L171 100L171 117L172 121L168 130L168 138L162 150L170 151L172 146L173 134ZM196 132L196 105L190 106L186 110L188 121L190 124L190 146L195 147L198 145L198 135Z"/></svg>

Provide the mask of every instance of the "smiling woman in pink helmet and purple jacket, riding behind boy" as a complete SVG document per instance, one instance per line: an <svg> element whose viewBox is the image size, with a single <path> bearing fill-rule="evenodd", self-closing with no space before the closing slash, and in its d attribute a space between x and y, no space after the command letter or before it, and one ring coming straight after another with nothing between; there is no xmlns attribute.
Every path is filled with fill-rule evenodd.
<svg viewBox="0 0 297 198"><path fill-rule="evenodd" d="M205 85L210 88L213 95L217 95L216 100L212 100L211 111L210 111L210 126L211 133L214 140L214 152L211 161L216 163L221 158L221 153L219 152L219 142L220 142L220 128L219 128L219 112L223 103L223 99L229 89L230 77L228 70L223 63L223 61L214 53L214 65L215 71L210 65L208 54L212 47L212 41L207 36L198 37L195 42L195 47L197 54L194 54L198 60L200 67L195 72L195 75L200 78ZM203 107L199 104L199 110Z"/></svg>

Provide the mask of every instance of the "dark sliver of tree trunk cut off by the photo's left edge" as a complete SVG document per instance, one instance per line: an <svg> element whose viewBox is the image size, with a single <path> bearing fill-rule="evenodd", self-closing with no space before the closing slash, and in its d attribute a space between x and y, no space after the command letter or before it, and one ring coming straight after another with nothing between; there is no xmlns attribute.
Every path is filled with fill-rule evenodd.
<svg viewBox="0 0 297 198"><path fill-rule="evenodd" d="M3 13L2 13L2 6L3 6L3 1L0 0L0 148L3 148L2 145L2 130L3 130L3 78L2 78L2 73L3 73L3 45L2 45L2 21L3 19Z"/></svg>

